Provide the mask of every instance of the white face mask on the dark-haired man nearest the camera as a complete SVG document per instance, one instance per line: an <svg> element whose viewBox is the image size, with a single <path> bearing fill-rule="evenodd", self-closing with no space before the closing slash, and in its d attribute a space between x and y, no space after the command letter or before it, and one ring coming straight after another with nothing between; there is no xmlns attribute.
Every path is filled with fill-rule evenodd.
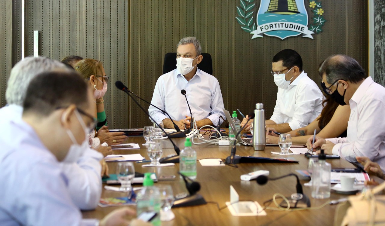
<svg viewBox="0 0 385 226"><path fill-rule="evenodd" d="M82 142L82 144L79 145L75 139L74 134L70 130L67 129L67 134L70 137L73 144L70 146L70 149L68 150L68 153L63 160L63 162L65 162L65 163L74 163L74 162L78 161L79 158L83 156L84 151L87 148L89 148L89 142L87 139L87 133L88 133L87 127L85 126L85 123L84 123L82 117L80 116L80 114L77 110L75 110L75 115L76 115L77 119L79 120L80 125L82 125L82 127L83 127L85 139Z"/></svg>

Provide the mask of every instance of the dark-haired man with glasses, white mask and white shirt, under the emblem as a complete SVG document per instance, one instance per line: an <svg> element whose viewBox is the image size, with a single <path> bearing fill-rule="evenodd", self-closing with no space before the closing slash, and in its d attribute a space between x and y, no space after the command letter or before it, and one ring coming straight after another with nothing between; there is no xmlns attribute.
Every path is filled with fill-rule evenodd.
<svg viewBox="0 0 385 226"><path fill-rule="evenodd" d="M302 58L295 50L286 49L277 53L272 66L271 74L278 91L273 115L266 120L267 129L286 133L307 126L322 111L321 90L302 70ZM248 116L241 126L247 120Z"/></svg>

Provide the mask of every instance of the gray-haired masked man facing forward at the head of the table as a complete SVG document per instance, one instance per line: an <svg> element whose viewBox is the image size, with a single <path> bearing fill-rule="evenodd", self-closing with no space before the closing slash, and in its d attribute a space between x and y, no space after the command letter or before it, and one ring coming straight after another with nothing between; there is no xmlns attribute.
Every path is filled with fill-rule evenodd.
<svg viewBox="0 0 385 226"><path fill-rule="evenodd" d="M192 117L198 128L204 125L218 125L223 113L223 98L218 80L198 69L203 56L201 43L195 37L182 38L176 51L177 68L159 77L151 103L171 116L180 129L190 128L190 111L181 90L191 107ZM149 114L156 121L163 121L165 128L174 128L171 120L150 105Z"/></svg>

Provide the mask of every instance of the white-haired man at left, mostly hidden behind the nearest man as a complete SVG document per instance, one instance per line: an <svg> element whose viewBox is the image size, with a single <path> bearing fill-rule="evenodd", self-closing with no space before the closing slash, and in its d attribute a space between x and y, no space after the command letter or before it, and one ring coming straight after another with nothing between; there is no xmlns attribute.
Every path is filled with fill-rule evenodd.
<svg viewBox="0 0 385 226"><path fill-rule="evenodd" d="M26 91L30 81L39 73L55 69L68 71L65 65L47 57L26 57L12 68L6 91L8 106L0 108L0 125L21 119L23 101L29 98ZM3 130L3 133L8 131ZM111 149L110 147L101 148ZM99 152L85 147L83 155L79 156L75 162L60 163L63 173L69 178L68 188L72 201L80 209L95 209L99 203L102 193L100 178L102 158Z"/></svg>

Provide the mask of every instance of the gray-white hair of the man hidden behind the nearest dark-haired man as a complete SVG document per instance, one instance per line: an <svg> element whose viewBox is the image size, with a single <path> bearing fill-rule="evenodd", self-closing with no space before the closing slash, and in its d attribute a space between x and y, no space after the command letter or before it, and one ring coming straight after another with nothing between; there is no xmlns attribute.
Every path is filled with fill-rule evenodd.
<svg viewBox="0 0 385 226"><path fill-rule="evenodd" d="M42 72L54 69L67 69L63 63L47 57L26 57L19 61L11 70L5 91L8 104L23 106L25 94L32 78Z"/></svg>

